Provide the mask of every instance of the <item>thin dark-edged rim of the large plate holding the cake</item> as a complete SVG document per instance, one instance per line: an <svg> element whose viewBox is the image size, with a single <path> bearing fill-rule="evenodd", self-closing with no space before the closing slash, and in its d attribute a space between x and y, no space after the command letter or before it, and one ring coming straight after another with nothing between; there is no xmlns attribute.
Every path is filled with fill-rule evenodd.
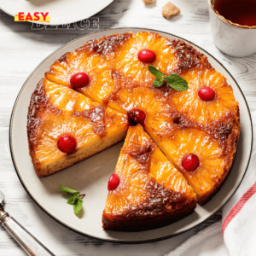
<svg viewBox="0 0 256 256"><path fill-rule="evenodd" d="M206 52L207 55L210 55L212 57L213 60L217 61L218 64L224 68L224 70L230 75L230 78L233 79L233 81L235 82L237 88L240 90L241 92L241 96L244 100L244 102L246 103L246 106L247 106L247 112L248 112L248 116L249 116L249 119L250 119L250 123L251 123L251 131L252 131L252 136L251 136L251 148L250 148L250 154L249 154L249 157L247 159L247 166L245 168L245 171L243 172L242 174L242 177L241 177L241 180L240 182L237 184L236 186L236 189L234 189L234 191L231 193L230 197L224 201L224 203L218 207L217 210L215 210L214 212L212 212L212 214L210 216L208 216L207 218L205 218L204 220L201 221L201 223L198 223L198 224L195 224L194 226L190 227L189 229L187 230L183 230L183 231L180 231L180 232L177 232L177 234L172 234L172 235L169 235L169 236L163 236L163 237L159 237L159 238L154 238L154 239L148 239L148 240L144 240L144 241L118 241L118 240L110 240L110 239L104 239L104 238L99 238L97 236L92 236L92 235L88 235L88 234L85 234L84 232L81 232L79 230L76 230L74 229L73 227L65 224L64 222L62 222L61 220L59 220L58 218L56 218L55 216L53 216L50 212L48 212L46 209L44 209L43 206L41 206L39 204L39 202L32 196L32 193L29 192L29 190L26 188L26 184L23 183L23 180L22 178L20 177L20 172L18 170L18 167L16 166L16 163L15 163L15 155L14 155L14 150L13 150L13 146L12 146L12 126L13 126L13 119L14 119L14 115L15 115L15 109L16 109L16 106L17 106L17 103L20 99L20 96L21 96L21 93L22 91L24 90L24 88L26 87L26 84L28 83L29 79L32 78L32 75L38 70L39 67L41 67L41 65L44 63L44 61L47 61L49 59L49 57L51 55L55 55L55 53L57 51L59 51L60 49L66 47L68 44L72 44L74 41L76 40L79 40L81 38L85 38L89 35L92 35L92 34L96 34L96 33L99 33L99 32L108 32L108 31L113 31L113 30L117 30L117 29L125 29L127 31L129 31L130 29L139 29L139 30L146 30L146 31L151 31L151 32L162 32L162 33L166 33L172 37L175 37L175 38L178 38L178 39L181 39L183 40L184 42L188 43L188 44L191 44L193 45L194 47L197 47L198 49L201 49L202 52ZM50 53L48 56L46 56L44 58L43 61L41 61L37 67L35 67L35 69L32 71L32 73L28 76L28 78L26 79L26 81L24 82L24 84L22 85L22 87L20 88L20 91L18 93L18 96L16 97L15 99L15 104L14 104L14 107L12 109L12 113L11 113L11 116L10 116L10 121L9 121L9 148L10 148L10 154L11 154L11 158L12 158L12 161L13 161L13 165L15 167L15 172L17 173L17 176L19 177L20 179L20 183L22 184L23 188L26 190L26 193L32 198L32 201L34 201L38 207L40 207L40 209L42 209L50 218L53 218L55 221L57 221L59 224L63 225L64 227L66 227L67 229L69 230L73 230L74 232L78 233L79 235L82 235L82 236L88 236L88 237L91 237L91 238L95 238L97 240L100 240L100 241L108 241L108 242L112 242L112 243L119 243L119 244L142 244L142 243L148 243L148 242L154 242L154 241L163 241L163 240L166 240L168 238L171 238L171 237L174 237L174 236L179 236L181 234L183 234L184 232L187 232L189 230L192 230L194 229L196 226L204 223L205 221L207 221L207 219L211 218L216 212L218 212L222 207L224 207L224 205L230 201L230 198L236 193L236 190L240 187L241 185L241 182L243 181L243 178L245 177L246 173L247 173L247 169L248 169L248 166L249 166L249 163L250 163L250 160L251 160L251 156L252 156L252 151L253 151L253 120L252 120L252 115L251 115L251 112L250 112L250 109L249 109L249 106L247 104L247 99L246 97L244 96L242 90L241 90L241 87L240 85L236 82L236 79L234 79L234 77L231 75L231 73L227 70L226 67L224 67L224 65L218 61L213 55L211 55L207 50L205 49L202 49L200 46L198 46L197 44L194 44L192 42L190 42L189 40L187 39L184 39L184 38L181 38L181 37L178 37L170 32L163 32L163 31L160 31L160 30L155 30L155 29L149 29L149 28L145 28L145 27L132 27L132 26L127 26L127 27L114 27L114 28L110 28L110 29L105 29L105 30L101 30L101 31L97 31L97 32L91 32L91 33L88 33L84 36L81 36L79 38L75 38L73 39L72 41L68 42L67 44L64 44L62 45L61 47L55 49L52 53ZM236 159L236 156L235 156L235 159ZM235 161L234 159L234 161ZM233 162L234 163L234 162ZM231 167L232 168L232 167ZM228 178L228 177L227 177ZM219 190L218 190L219 191Z"/></svg>

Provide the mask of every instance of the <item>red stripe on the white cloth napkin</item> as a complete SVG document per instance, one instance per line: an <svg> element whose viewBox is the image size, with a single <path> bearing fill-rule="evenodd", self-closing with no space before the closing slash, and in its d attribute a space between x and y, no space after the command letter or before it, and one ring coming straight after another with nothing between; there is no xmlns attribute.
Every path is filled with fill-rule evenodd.
<svg viewBox="0 0 256 256"><path fill-rule="evenodd" d="M230 221L236 217L237 213L241 211L241 208L246 204L246 202L256 193L256 182L253 186L247 190L247 192L241 196L241 199L236 203L236 205L231 209L230 213L224 219L222 224L222 233L224 235L224 231L227 226L230 224Z"/></svg>

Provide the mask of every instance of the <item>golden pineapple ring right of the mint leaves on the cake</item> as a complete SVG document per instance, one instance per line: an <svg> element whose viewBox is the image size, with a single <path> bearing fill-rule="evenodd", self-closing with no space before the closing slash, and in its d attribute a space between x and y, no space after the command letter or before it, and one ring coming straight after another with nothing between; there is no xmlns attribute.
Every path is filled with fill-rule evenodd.
<svg viewBox="0 0 256 256"><path fill-rule="evenodd" d="M215 70L195 69L183 73L183 79L189 83L189 89L185 91L172 90L172 102L177 111L184 113L187 119L207 124L220 119L227 113L236 113L236 102L232 87L226 79ZM206 102L198 96L201 86L212 88L215 97Z"/></svg>

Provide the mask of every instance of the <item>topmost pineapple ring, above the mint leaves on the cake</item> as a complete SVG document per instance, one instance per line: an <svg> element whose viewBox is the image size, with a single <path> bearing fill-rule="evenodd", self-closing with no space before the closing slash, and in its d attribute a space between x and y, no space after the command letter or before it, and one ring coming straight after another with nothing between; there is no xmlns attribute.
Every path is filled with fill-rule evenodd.
<svg viewBox="0 0 256 256"><path fill-rule="evenodd" d="M137 55L142 49L154 51L156 59L151 63L139 61ZM175 50L168 39L156 33L138 32L115 50L115 69L137 82L152 84L155 77L148 72L148 65L153 65L163 73L170 73L176 59Z"/></svg>

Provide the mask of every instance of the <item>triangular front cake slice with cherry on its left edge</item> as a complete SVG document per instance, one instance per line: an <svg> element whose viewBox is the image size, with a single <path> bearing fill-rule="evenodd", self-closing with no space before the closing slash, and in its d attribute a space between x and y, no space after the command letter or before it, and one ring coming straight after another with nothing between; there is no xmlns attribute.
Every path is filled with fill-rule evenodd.
<svg viewBox="0 0 256 256"><path fill-rule="evenodd" d="M102 215L108 230L149 230L194 211L196 195L141 125L130 126Z"/></svg>

